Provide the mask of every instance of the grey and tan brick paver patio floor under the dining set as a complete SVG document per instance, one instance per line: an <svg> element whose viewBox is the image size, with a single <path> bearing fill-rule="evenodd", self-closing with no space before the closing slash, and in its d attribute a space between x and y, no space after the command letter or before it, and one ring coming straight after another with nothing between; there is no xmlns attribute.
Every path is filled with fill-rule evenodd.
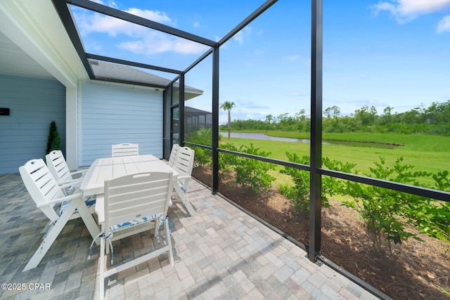
<svg viewBox="0 0 450 300"><path fill-rule="evenodd" d="M169 209L175 266L167 254L114 275L109 299L378 299L234 207L200 183L189 198L198 212ZM96 299L98 252L80 219L68 225L37 268L22 272L37 249L46 216L36 209L19 174L0 175L0 299ZM115 263L158 247L148 233L113 243ZM17 286L16 286L17 288Z"/></svg>

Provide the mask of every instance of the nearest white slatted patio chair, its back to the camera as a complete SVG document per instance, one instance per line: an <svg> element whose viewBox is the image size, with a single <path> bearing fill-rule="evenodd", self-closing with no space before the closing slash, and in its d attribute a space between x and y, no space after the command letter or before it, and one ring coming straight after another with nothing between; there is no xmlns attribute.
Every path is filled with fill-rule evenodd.
<svg viewBox="0 0 450 300"><path fill-rule="evenodd" d="M103 213L98 212L98 221L102 223L100 246L100 299L105 294L105 279L122 270L137 266L162 253L169 252L169 261L174 266L172 241L167 218L169 199L172 193L172 171L129 174L105 181ZM101 207L97 207L99 211ZM112 241L120 240L129 235L141 233L155 228L155 235L160 242L159 228L165 224L166 244L164 247L139 256L122 265L107 268L105 265L105 242L111 248L110 258L113 265ZM150 247L151 248L151 247Z"/></svg>

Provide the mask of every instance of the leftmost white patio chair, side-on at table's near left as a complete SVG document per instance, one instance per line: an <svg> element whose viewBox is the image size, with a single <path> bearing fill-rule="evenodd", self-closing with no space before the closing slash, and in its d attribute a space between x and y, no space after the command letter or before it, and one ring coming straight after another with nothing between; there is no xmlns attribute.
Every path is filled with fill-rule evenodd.
<svg viewBox="0 0 450 300"><path fill-rule="evenodd" d="M92 237L98 235L100 230L91 215L95 209L95 197L84 199L82 193L65 196L42 159L28 161L19 168L19 171L37 208L50 219L41 244L23 271L35 268L39 264L65 224L71 219L81 216Z"/></svg>

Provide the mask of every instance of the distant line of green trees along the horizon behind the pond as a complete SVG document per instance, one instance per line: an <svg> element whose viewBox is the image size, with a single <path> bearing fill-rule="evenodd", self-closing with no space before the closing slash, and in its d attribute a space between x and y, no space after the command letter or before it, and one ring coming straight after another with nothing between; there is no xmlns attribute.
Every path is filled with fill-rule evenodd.
<svg viewBox="0 0 450 300"><path fill-rule="evenodd" d="M350 116L342 116L338 106L323 110L323 132L371 132L371 133L423 133L450 136L450 100L432 103L429 107L415 107L407 112L393 112L387 106L379 115L375 107L364 105ZM307 132L311 126L310 116L305 110L290 115L288 112L266 119L236 119L231 130L281 130ZM227 125L221 125L227 130Z"/></svg>

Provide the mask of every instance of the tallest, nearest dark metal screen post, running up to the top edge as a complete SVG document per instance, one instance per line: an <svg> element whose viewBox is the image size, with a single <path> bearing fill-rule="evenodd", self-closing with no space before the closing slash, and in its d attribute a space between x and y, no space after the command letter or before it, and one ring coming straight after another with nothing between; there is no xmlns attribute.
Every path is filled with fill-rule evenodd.
<svg viewBox="0 0 450 300"><path fill-rule="evenodd" d="M321 251L322 177L322 0L311 2L311 163L309 195L310 261Z"/></svg>

